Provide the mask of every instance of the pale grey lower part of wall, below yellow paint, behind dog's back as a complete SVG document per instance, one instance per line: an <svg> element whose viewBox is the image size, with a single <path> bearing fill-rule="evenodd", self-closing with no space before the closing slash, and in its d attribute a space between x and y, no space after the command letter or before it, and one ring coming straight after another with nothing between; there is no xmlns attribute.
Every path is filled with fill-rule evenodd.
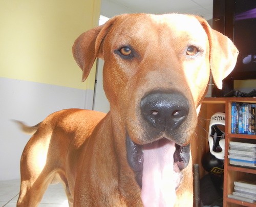
<svg viewBox="0 0 256 207"><path fill-rule="evenodd" d="M20 156L30 138L18 129L12 119L33 126L54 111L92 109L93 90L89 89L1 77L0 88L0 180L19 178Z"/></svg>

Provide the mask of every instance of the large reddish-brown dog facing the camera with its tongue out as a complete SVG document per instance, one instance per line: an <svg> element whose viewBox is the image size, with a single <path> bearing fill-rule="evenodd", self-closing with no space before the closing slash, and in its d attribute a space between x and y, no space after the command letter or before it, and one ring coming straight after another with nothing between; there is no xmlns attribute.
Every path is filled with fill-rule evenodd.
<svg viewBox="0 0 256 207"><path fill-rule="evenodd" d="M73 54L85 80L104 59L110 112L67 109L26 145L17 206L62 181L70 206L193 206L190 135L210 70L217 87L238 51L201 17L124 14L83 33Z"/></svg>

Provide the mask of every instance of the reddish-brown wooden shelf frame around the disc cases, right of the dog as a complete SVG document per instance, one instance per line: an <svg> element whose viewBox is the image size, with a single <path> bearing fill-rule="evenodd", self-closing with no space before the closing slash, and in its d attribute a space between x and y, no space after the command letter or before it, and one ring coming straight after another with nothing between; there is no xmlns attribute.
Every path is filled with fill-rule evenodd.
<svg viewBox="0 0 256 207"><path fill-rule="evenodd" d="M256 135L250 134L233 134L231 131L231 103L241 102L241 103L256 103L256 98L205 98L202 102L202 113L201 117L204 120L203 125L207 131L209 126L209 120L211 116L216 112L225 112L225 159L224 159L224 192L223 192L223 206L224 207L237 207L237 206L249 206L256 207L256 203L248 203L236 199L228 198L228 194L233 192L234 181L240 179L250 179L256 181L256 169L244 168L239 166L232 166L229 164L228 159L228 149L230 141L239 140L252 140L256 143ZM202 120L202 119L201 119ZM199 119L200 121L200 119ZM203 132L201 132L203 133ZM204 136L207 137L207 132L204 132ZM208 143L207 143L208 144Z"/></svg>

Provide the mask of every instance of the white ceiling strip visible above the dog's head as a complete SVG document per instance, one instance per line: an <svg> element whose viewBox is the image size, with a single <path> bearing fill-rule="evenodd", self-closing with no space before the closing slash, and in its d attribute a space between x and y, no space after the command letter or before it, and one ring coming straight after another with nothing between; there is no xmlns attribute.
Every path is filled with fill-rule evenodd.
<svg viewBox="0 0 256 207"><path fill-rule="evenodd" d="M186 13L212 18L213 0L109 0L132 13Z"/></svg>

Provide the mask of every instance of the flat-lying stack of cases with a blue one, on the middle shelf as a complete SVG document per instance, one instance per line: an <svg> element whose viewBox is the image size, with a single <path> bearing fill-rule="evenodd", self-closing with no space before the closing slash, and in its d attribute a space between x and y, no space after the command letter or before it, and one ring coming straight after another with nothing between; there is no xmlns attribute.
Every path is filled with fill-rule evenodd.
<svg viewBox="0 0 256 207"><path fill-rule="evenodd" d="M256 169L256 143L229 142L229 163Z"/></svg>

